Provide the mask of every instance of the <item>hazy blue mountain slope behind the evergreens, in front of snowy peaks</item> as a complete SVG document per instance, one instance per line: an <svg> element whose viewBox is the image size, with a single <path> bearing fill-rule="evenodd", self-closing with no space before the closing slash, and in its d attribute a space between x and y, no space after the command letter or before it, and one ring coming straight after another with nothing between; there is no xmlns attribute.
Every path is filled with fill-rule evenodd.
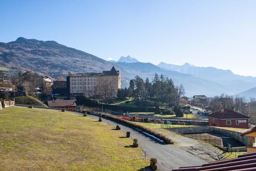
<svg viewBox="0 0 256 171"><path fill-rule="evenodd" d="M138 75L141 78L143 78L143 80L145 80L146 77L148 77L149 80L151 81L155 73L157 73L159 76L163 74L165 78L171 78L175 85L182 84L185 87L187 96L193 96L195 94L205 94L207 96L214 96L220 95L221 93L233 93L230 91L229 87L223 86L214 81L194 77L187 74L181 74L176 71L163 70L151 63L118 62L117 64L122 68L121 76L125 79L124 83L128 85L130 79L127 78L129 78L130 75Z"/></svg>

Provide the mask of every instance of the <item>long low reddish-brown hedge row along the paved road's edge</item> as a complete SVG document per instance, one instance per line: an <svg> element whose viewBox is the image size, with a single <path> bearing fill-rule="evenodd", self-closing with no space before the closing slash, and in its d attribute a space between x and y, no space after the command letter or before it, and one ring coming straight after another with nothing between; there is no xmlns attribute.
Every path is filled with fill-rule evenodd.
<svg viewBox="0 0 256 171"><path fill-rule="evenodd" d="M141 125L137 125L137 124L132 123L130 121L127 121L127 120L124 120L124 119L119 119L119 118L116 118L114 116L106 115L106 114L101 114L101 113L90 112L89 114L105 117L107 119L116 121L117 123L121 123L121 124L124 124L126 126L130 126L132 128L138 128L138 129L140 129L143 132L146 132L146 133L148 133L150 135L153 135L153 136L157 137L158 139L162 140L166 144L173 144L174 143L171 139L169 139L168 137L164 136L163 134L160 134L160 133L154 131L153 129L149 129L149 128L143 127Z"/></svg>

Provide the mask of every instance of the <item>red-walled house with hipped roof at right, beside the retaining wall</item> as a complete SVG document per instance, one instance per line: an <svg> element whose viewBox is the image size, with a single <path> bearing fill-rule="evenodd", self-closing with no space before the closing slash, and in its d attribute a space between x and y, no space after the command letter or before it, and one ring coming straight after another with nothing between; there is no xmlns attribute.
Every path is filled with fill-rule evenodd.
<svg viewBox="0 0 256 171"><path fill-rule="evenodd" d="M209 115L209 126L249 128L250 117L230 109L222 109Z"/></svg>

